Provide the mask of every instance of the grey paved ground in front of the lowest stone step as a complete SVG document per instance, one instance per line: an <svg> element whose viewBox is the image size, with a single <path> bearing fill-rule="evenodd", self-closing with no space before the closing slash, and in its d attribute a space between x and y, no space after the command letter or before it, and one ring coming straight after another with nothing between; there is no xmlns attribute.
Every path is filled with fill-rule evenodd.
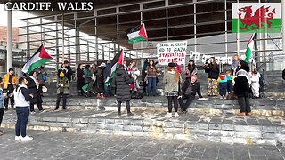
<svg viewBox="0 0 285 160"><path fill-rule="evenodd" d="M285 148L228 145L216 142L154 140L70 132L28 131L33 141L13 140L13 131L0 137L0 156L8 159L284 159Z"/></svg>

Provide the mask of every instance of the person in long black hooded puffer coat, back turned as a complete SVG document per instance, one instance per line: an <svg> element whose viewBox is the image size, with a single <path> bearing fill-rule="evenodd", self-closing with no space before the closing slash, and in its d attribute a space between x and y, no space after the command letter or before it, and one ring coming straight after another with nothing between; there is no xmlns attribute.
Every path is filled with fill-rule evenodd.
<svg viewBox="0 0 285 160"><path fill-rule="evenodd" d="M134 114L131 113L130 107L131 93L129 91L129 84L131 83L132 81L126 73L124 66L121 65L116 71L116 76L114 78L114 84L116 86L116 100L118 102L118 116L121 116L122 101L126 101L127 116L134 116Z"/></svg>

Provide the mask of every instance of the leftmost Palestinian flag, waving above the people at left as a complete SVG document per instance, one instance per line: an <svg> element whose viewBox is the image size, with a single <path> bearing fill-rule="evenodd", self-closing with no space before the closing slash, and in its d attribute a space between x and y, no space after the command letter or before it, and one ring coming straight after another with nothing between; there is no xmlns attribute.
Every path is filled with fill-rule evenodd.
<svg viewBox="0 0 285 160"><path fill-rule="evenodd" d="M21 71L29 74L29 72L33 71L35 68L38 68L41 65L45 65L46 62L52 60L53 58L46 52L45 46L42 44L37 52L27 61Z"/></svg>

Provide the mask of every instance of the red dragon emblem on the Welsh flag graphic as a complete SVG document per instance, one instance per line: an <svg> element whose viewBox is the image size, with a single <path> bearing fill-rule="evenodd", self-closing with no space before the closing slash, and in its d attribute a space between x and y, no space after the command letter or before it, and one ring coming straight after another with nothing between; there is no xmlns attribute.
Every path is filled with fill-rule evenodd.
<svg viewBox="0 0 285 160"><path fill-rule="evenodd" d="M271 28L271 21L275 14L275 8L269 12L269 7L262 6L258 8L252 15L251 6L245 6L239 9L239 20L242 23L240 30L254 30L259 28ZM241 13L244 12L244 18L241 18ZM269 13L267 13L269 12Z"/></svg>

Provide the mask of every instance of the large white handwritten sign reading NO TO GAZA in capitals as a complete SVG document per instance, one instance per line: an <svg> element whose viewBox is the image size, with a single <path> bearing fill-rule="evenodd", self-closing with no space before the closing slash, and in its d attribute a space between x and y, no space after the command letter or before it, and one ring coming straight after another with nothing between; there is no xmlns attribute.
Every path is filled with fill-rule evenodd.
<svg viewBox="0 0 285 160"><path fill-rule="evenodd" d="M185 64L187 41L159 43L157 50L160 65L167 65L174 60L177 61L179 65Z"/></svg>

